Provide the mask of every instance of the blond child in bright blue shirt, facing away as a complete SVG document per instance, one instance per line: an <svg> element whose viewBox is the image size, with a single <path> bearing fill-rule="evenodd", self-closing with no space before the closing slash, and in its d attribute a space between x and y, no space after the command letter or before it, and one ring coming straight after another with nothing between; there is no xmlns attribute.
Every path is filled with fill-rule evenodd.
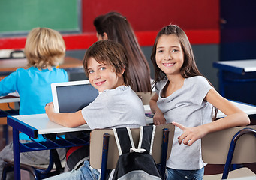
<svg viewBox="0 0 256 180"><path fill-rule="evenodd" d="M20 115L45 113L44 107L52 100L51 83L67 82L65 70L56 68L65 57L65 42L62 35L50 28L33 28L26 38L25 55L29 68L19 68L0 81L0 96L10 92L20 95ZM42 137L39 137L40 141ZM21 142L30 142L29 136L20 133ZM65 158L65 149L58 150L60 159ZM29 165L49 164L50 151L20 153L20 163ZM13 160L13 142L0 152L0 175L4 159ZM9 175L10 173L8 173ZM9 177L14 179L14 177Z"/></svg>

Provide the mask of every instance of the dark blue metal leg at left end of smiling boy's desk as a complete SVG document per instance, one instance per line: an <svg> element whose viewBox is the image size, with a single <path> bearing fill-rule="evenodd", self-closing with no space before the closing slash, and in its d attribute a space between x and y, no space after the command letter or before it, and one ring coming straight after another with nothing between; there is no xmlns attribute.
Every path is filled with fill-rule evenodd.
<svg viewBox="0 0 256 180"><path fill-rule="evenodd" d="M13 143L14 143L14 178L20 180L20 141L19 130L13 128Z"/></svg>

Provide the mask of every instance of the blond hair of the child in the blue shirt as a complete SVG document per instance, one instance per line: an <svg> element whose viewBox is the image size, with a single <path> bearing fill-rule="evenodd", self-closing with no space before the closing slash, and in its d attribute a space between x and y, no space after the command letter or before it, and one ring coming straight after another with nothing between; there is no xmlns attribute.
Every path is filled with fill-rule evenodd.
<svg viewBox="0 0 256 180"><path fill-rule="evenodd" d="M51 69L63 62L66 46L58 31L33 28L26 39L24 51L29 66Z"/></svg>

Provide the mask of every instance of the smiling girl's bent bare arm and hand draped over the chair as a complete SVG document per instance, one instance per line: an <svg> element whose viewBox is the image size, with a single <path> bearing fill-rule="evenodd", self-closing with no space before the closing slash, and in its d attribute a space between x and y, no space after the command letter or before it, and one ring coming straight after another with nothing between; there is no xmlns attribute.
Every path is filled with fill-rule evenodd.
<svg viewBox="0 0 256 180"><path fill-rule="evenodd" d="M192 145L194 141L203 138L207 133L250 124L248 115L219 95L215 89L209 90L205 100L227 116L198 127L184 127L182 124L173 122L174 125L183 130L182 136L179 136L179 144L183 141L185 145Z"/></svg>

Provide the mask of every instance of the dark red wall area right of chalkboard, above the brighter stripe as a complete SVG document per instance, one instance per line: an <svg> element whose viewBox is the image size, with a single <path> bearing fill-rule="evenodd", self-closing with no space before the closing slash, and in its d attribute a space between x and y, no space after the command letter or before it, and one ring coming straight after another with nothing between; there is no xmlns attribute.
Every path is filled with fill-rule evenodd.
<svg viewBox="0 0 256 180"><path fill-rule="evenodd" d="M170 23L185 29L218 29L217 0L129 0L82 1L83 32L93 32L95 17L118 11L127 17L134 31L158 31Z"/></svg>

